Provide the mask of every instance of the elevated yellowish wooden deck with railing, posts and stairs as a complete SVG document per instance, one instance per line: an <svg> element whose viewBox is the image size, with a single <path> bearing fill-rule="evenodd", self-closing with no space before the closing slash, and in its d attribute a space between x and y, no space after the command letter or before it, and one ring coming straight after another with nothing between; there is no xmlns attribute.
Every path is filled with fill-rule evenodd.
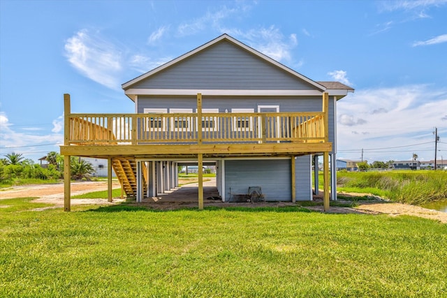
<svg viewBox="0 0 447 298"><path fill-rule="evenodd" d="M202 113L200 94L196 113L72 114L68 94L64 106L65 175L69 156L106 158L131 196L144 191L138 189L137 160L194 159L201 169L203 158L288 156L294 163L295 156L323 153L326 168L332 151L327 93L317 112ZM109 172L111 179L111 167Z"/></svg>

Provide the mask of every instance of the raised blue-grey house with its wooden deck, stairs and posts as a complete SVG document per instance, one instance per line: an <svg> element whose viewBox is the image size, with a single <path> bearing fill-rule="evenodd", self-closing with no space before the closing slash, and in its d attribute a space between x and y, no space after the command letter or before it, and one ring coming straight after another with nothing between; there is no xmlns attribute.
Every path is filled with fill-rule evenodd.
<svg viewBox="0 0 447 298"><path fill-rule="evenodd" d="M312 200L312 158L323 156L325 209L329 184L335 200L335 106L351 87L311 80L223 34L122 89L135 114L71 114L64 95L66 165L68 156L108 158L140 202L177 186L177 165L193 162L202 209L204 163L216 166L223 201L261 186L266 200L295 202Z"/></svg>

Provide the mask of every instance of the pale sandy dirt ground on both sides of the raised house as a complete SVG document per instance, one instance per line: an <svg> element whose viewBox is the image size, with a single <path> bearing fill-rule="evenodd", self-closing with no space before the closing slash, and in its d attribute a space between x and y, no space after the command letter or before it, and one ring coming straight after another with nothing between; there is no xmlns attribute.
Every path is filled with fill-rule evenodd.
<svg viewBox="0 0 447 298"><path fill-rule="evenodd" d="M195 185L189 185L195 186ZM119 183L114 182L113 188L119 188ZM92 191L106 191L107 182L74 182L71 184L71 195L80 195L83 193L89 193ZM37 197L35 202L46 202L54 204L55 207L64 206L64 184L38 184L29 186L13 186L11 188L3 188L0 190L0 200L7 198L30 198ZM71 204L116 204L122 202L119 198L114 198L113 202L108 202L103 199L71 199ZM246 204L248 207L260 207L262 203ZM264 203L266 206L272 206L272 203ZM275 205L284 206L292 203L278 202ZM179 207L186 207L183 204L179 204ZM242 204L238 204L242 206ZM307 207L314 211L323 211L323 207ZM172 209L172 208L169 208ZM388 214L390 216L410 215L419 216L423 218L430 218L441 223L447 223L447 213L441 211L435 211L431 209L425 209L418 206L409 204L391 203L391 202L368 202L362 203L356 208L348 207L330 207L331 213L340 214Z"/></svg>

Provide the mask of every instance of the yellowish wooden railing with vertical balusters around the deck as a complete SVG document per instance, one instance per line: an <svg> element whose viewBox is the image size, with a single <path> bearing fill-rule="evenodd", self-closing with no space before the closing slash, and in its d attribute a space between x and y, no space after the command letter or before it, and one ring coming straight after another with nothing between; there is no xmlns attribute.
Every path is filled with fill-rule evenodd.
<svg viewBox="0 0 447 298"><path fill-rule="evenodd" d="M68 144L325 142L324 112L67 114ZM327 121L327 120L326 120Z"/></svg>

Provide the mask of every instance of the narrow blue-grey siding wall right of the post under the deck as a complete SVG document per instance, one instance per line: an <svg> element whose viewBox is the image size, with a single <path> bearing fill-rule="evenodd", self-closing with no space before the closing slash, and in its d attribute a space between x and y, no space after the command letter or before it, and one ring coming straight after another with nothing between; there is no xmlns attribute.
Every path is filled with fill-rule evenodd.
<svg viewBox="0 0 447 298"><path fill-rule="evenodd" d="M298 156L295 161L296 200L312 200L312 160L310 155Z"/></svg>

